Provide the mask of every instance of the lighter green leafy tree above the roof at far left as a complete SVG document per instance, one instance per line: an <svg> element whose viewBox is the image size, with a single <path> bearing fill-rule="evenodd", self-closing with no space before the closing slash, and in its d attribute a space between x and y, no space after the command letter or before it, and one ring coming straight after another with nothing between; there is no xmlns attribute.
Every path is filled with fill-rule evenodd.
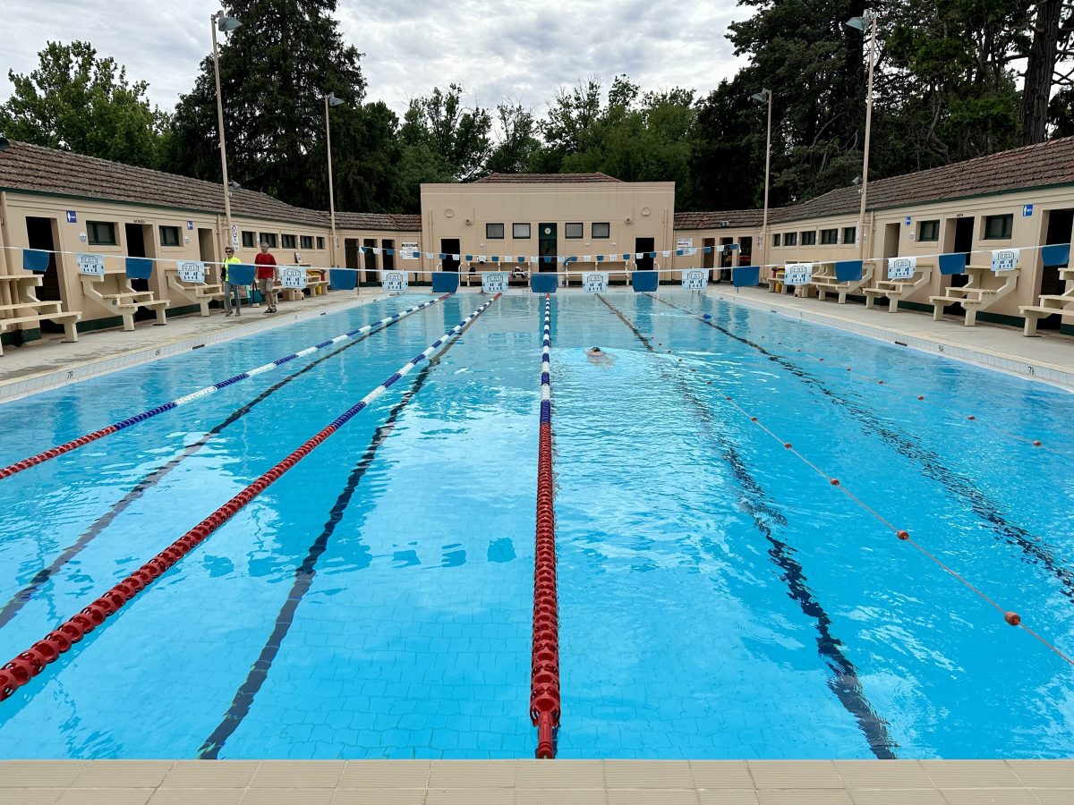
<svg viewBox="0 0 1074 805"><path fill-rule="evenodd" d="M8 72L15 89L0 106L12 140L143 167L157 167L166 116L145 98L145 82L127 80L88 42L49 42L29 75Z"/></svg>

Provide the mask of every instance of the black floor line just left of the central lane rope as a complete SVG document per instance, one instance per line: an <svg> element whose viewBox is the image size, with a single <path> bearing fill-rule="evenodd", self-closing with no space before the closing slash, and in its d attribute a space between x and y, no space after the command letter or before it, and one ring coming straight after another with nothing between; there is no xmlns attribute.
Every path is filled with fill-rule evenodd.
<svg viewBox="0 0 1074 805"><path fill-rule="evenodd" d="M476 321L476 320L475 320ZM321 557L329 546L329 540L332 535L335 533L336 526L343 519L344 512L347 511L347 507L350 506L351 498L354 496L354 492L358 489L358 484L361 482L362 477L365 475L369 467L373 465L373 459L377 455L377 450L380 445L384 443L392 430L395 429L395 422L398 420L400 414L403 413L403 409L407 407L407 404L413 398L413 396L421 391L422 385L425 384L425 380L429 378L430 372L440 363L442 357L448 354L448 351L459 342L463 334L469 328L470 322L462 331L459 332L459 336L453 338L445 347L444 351L439 355L434 357L427 364L425 364L421 371L418 372L415 378L413 385L404 392L403 397L392 406L392 410L388 414L388 419L381 423L373 434L373 439L369 441L369 447L365 449L362 457L354 465L354 468L350 471L350 475L347 478L347 483L344 485L343 492L339 493L339 497L336 498L335 504L332 507L329 513L329 518L324 523L324 528L321 530L320 536L314 540L313 544L309 546L306 553L306 558L302 560L294 571L294 582L291 584L291 590L287 595L287 600L284 601L284 605L279 610L279 614L276 616L276 625L272 630L272 634L268 635L268 640L265 642L264 646L261 648L261 654L258 655L258 659L253 662L250 668L249 674L246 676L246 680L240 686L238 691L235 693L235 698L231 701L231 706L224 714L223 719L217 724L216 729L205 738L205 743L201 745L198 749L199 760L217 760L220 756L220 750L223 748L224 742L238 729L238 726L243 722L243 719L250 713L250 707L253 705L253 698L261 690L261 686L264 685L265 679L268 678L268 671L272 669L272 663L276 659L276 655L279 654L280 646L284 644L284 639L287 636L288 631L291 629L291 625L294 623L294 613L299 609L299 604L302 603L302 599L305 597L306 592L314 584L314 576L317 575L317 560Z"/></svg>

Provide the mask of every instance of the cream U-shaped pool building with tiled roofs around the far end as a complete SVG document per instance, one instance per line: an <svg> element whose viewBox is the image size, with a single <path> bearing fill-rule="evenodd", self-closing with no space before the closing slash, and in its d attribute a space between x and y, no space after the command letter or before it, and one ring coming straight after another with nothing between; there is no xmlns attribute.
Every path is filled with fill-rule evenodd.
<svg viewBox="0 0 1074 805"><path fill-rule="evenodd" d="M757 209L677 214L673 182L624 182L603 174L494 174L465 185L422 185L421 215L339 213L335 244L326 211L292 207L250 190L230 192L238 257L246 261L252 261L258 241L268 239L281 264L346 266L359 269L363 283L377 282L382 269L405 268L418 283L427 281L431 270L469 270L467 255L478 270L492 267L480 264L481 255L490 263L492 255L512 261L576 257L566 268L577 272L595 267L596 255L604 254L600 267L613 275L658 267L665 281L677 281L672 269L686 267L711 268L715 278L716 268L739 264L927 257L1070 243L1074 138L870 182L863 238L858 237L860 195L855 187L771 209L763 232ZM168 261L158 264L166 268L170 261L219 261L226 236L220 185L23 143L0 152L0 246L5 247L0 249L0 272L24 273L18 249L58 252L38 289L40 297L82 311L82 331L119 322L85 293L74 252L103 254L110 272L121 273L128 255ZM674 254L677 248L702 246L714 250ZM736 249L722 248L728 246ZM375 247L376 252L360 247ZM417 260L387 251L409 248L419 252ZM650 259L634 258L652 251L658 253L652 265ZM459 264L454 254L461 258ZM630 258L624 261L623 254ZM562 272L564 266L542 260L526 266L531 268ZM207 281L215 270L209 267ZM928 297L952 281L959 280L934 273L927 287L909 297L910 306L928 309ZM989 281L1000 280L992 275ZM155 270L147 289L166 299L170 314L199 309L170 284L166 270ZM981 318L1020 323L1019 305L1063 290L1059 273L1042 268L1039 252L1024 252L1016 291ZM0 282L0 307L12 304L11 294L11 283ZM0 316L14 318L10 311ZM1064 331L1072 332L1074 317L1065 324ZM16 340L37 335L34 326L15 327L23 331ZM3 338L10 342L13 334Z"/></svg>

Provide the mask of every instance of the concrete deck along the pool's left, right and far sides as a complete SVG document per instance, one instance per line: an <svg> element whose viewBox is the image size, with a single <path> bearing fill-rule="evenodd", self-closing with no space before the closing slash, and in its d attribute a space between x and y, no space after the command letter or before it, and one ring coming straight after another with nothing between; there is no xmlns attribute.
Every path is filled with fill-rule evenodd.
<svg viewBox="0 0 1074 805"><path fill-rule="evenodd" d="M619 288L611 293L624 291L627 289ZM460 293L476 295L477 292L477 289L463 289ZM526 292L512 290L510 293ZM570 289L560 293L582 291ZM743 288L736 292L729 286L710 286L708 294L1074 390L1074 337L1071 336L1047 334L1026 338L1016 327L985 323L967 327L957 317L937 322L931 316L915 311L889 313L883 308L867 309L853 303L838 305L833 301L798 298L768 293L760 288ZM244 308L246 314L242 318L226 318L222 312L214 311L209 317L173 318L162 327L141 322L133 333L121 330L86 333L77 343L63 343L61 334L49 334L25 347L4 348L0 355L0 402L386 296L373 289L364 289L360 295L337 291L297 303L280 303L280 312L276 314L265 314L263 307Z"/></svg>

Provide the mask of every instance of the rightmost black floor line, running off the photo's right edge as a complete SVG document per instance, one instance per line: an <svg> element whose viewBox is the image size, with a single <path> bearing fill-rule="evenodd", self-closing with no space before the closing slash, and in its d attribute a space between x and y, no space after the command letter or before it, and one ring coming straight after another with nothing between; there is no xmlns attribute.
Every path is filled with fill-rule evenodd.
<svg viewBox="0 0 1074 805"><path fill-rule="evenodd" d="M700 314L695 313L693 310L680 307L679 305L674 305L667 299L662 299L657 296L650 295L650 298L656 299L656 302L661 302L674 308L676 310L690 313L691 317L696 318L696 320L701 324L708 324L713 330L723 333L729 338L757 350L769 361L778 364L786 371L789 371L807 385L816 389L834 405L844 408L853 419L856 419L862 426L865 426L867 433L876 434L881 438L881 441L894 449L897 453L916 462L921 467L921 473L926 478L931 478L933 481L937 481L944 488L946 488L948 493L961 498L961 500L968 503L974 514L992 526L992 530L996 532L996 539L1002 540L1008 545L1020 548L1025 556L1025 560L1043 566L1049 573L1051 573L1051 575L1059 580L1059 583L1062 585L1060 592L1062 592L1062 595L1069 600L1074 601L1074 572L1072 572L1069 568L1065 568L1061 564L1061 560L1056 558L1054 548L1047 543L1044 543L1041 538L1033 536L1021 526L1008 522L1003 515L1003 512L1000 511L999 506L989 500L988 496L977 489L969 479L962 478L953 470L947 469L947 467L945 467L943 462L940 459L940 456L931 450L923 448L919 443L913 441L905 435L887 427L883 421L873 415L871 411L828 389L823 382L821 382L819 378L806 371L800 366L797 366L790 360L782 355L778 355L774 352L769 352L759 343L751 341L748 338L743 338L740 335L736 335L731 331L720 326L713 321L706 321L701 319Z"/></svg>

